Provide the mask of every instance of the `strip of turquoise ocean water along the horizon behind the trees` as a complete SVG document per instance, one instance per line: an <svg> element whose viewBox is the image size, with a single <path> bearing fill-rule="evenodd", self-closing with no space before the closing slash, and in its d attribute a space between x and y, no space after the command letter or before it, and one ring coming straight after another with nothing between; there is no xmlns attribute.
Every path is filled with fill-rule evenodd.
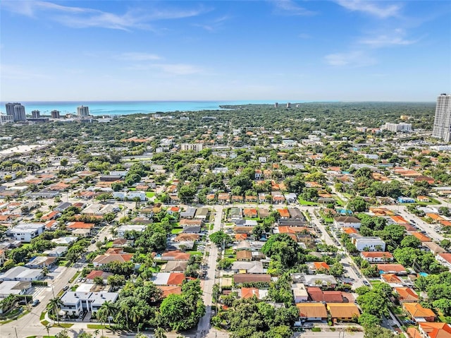
<svg viewBox="0 0 451 338"><path fill-rule="evenodd" d="M221 109L219 106L224 104L274 104L279 102L283 107L286 104L277 100L249 100L249 101L142 101L142 102L115 102L115 101L95 101L95 102L20 102L25 106L27 114L31 115L32 110L39 110L41 115L50 115L54 109L60 111L60 114L69 114L77 112L77 107L84 105L89 107L91 115L128 115L128 114L149 114L169 111L202 111ZM304 101L292 101L304 102ZM0 111L5 112L5 103L1 102Z"/></svg>

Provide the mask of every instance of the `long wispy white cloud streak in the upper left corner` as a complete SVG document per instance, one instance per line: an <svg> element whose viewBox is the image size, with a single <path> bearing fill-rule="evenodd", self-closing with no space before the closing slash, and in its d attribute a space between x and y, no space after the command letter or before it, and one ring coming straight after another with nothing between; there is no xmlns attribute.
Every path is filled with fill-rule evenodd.
<svg viewBox="0 0 451 338"><path fill-rule="evenodd" d="M100 11L92 8L62 6L48 1L2 1L6 11L37 18L45 13L46 19L54 20L72 28L111 28L116 30L152 29L149 22L188 18L204 13L206 9L180 10L178 8L154 8L152 11L130 9L123 14ZM39 16L39 18L42 18Z"/></svg>

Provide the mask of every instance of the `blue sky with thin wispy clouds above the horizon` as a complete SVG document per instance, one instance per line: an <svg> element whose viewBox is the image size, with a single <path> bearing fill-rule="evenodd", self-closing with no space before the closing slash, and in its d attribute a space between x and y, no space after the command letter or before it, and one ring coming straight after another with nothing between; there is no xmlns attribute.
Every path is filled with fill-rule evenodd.
<svg viewBox="0 0 451 338"><path fill-rule="evenodd" d="M434 101L451 1L1 1L0 101Z"/></svg>

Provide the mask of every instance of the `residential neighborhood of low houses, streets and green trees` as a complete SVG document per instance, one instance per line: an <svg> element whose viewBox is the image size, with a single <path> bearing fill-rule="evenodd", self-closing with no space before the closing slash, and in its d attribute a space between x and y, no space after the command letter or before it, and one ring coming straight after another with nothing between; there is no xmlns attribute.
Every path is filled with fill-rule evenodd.
<svg viewBox="0 0 451 338"><path fill-rule="evenodd" d="M451 154L424 114L408 135L348 137L313 113L127 116L98 137L56 124L80 142L2 158L0 330L451 337Z"/></svg>

